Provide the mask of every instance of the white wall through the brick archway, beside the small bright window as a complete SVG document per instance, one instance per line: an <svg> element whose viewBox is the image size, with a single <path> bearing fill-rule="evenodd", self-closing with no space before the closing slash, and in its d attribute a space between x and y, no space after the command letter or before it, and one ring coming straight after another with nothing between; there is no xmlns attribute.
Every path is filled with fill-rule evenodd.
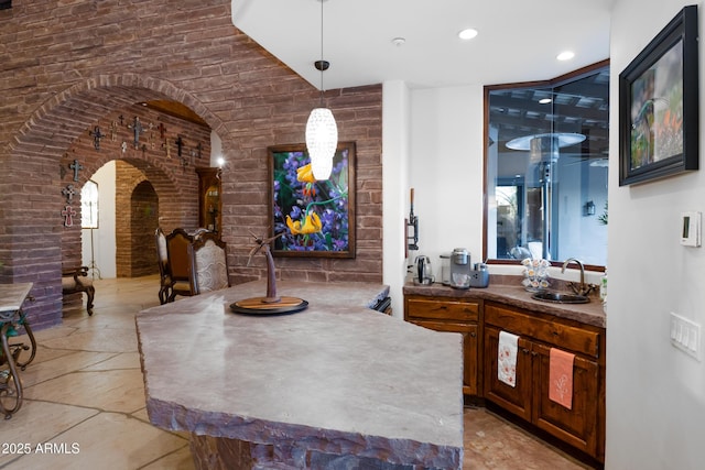
<svg viewBox="0 0 705 470"><path fill-rule="evenodd" d="M94 230L94 254L95 265L100 271L99 273L90 272L90 275L95 274L102 278L117 277L116 267L116 240L115 240L115 178L116 178L116 165L115 161L108 162L102 165L90 177L94 182L98 183L98 228ZM83 248L83 265L91 266L90 254L90 230L82 230L82 248Z"/></svg>

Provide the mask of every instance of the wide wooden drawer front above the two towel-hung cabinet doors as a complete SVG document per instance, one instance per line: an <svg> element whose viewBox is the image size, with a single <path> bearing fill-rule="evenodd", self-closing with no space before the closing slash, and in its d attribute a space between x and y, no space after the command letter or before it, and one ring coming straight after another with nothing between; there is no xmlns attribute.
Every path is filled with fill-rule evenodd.
<svg viewBox="0 0 705 470"><path fill-rule="evenodd" d="M528 336L557 348L595 358L599 356L599 332L597 331L487 304L485 305L485 321L514 335Z"/></svg>

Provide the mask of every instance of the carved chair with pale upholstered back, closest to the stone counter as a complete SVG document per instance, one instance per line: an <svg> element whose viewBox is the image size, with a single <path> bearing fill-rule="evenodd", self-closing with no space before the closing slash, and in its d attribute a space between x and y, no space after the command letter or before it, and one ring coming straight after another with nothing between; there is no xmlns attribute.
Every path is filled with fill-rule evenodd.
<svg viewBox="0 0 705 470"><path fill-rule="evenodd" d="M230 287L226 243L217 233L202 233L188 245L191 291L195 294Z"/></svg>

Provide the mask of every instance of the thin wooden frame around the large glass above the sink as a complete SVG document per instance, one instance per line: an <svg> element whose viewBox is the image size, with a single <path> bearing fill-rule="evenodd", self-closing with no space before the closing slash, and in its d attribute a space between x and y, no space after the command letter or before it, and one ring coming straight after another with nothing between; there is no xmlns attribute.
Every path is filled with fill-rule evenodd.
<svg viewBox="0 0 705 470"><path fill-rule="evenodd" d="M488 229L488 216L489 216L489 207L488 207L488 197L487 197L487 185L488 181L488 152L489 152L489 94L494 90L498 89L507 89L507 88L530 88L530 87L556 87L570 81L574 81L579 79L584 75L589 75L595 70L609 66L609 59L600 61L598 63L588 65L583 68L578 68L577 70L570 72L567 74L561 75L555 78L551 78L547 80L536 80L536 81L521 81L513 84L499 84L499 85L486 85L484 89L484 98L482 98L482 107L484 107L484 116L482 116L482 138L485 142L482 143L482 260L486 260L488 264L505 264L505 265L521 265L521 260L501 260L501 259L488 259L487 258L487 229ZM610 70L611 74L611 70ZM609 197L609 196L608 196ZM551 261L552 266L563 266L563 261ZM605 271L604 265L597 264L585 264L585 271Z"/></svg>

